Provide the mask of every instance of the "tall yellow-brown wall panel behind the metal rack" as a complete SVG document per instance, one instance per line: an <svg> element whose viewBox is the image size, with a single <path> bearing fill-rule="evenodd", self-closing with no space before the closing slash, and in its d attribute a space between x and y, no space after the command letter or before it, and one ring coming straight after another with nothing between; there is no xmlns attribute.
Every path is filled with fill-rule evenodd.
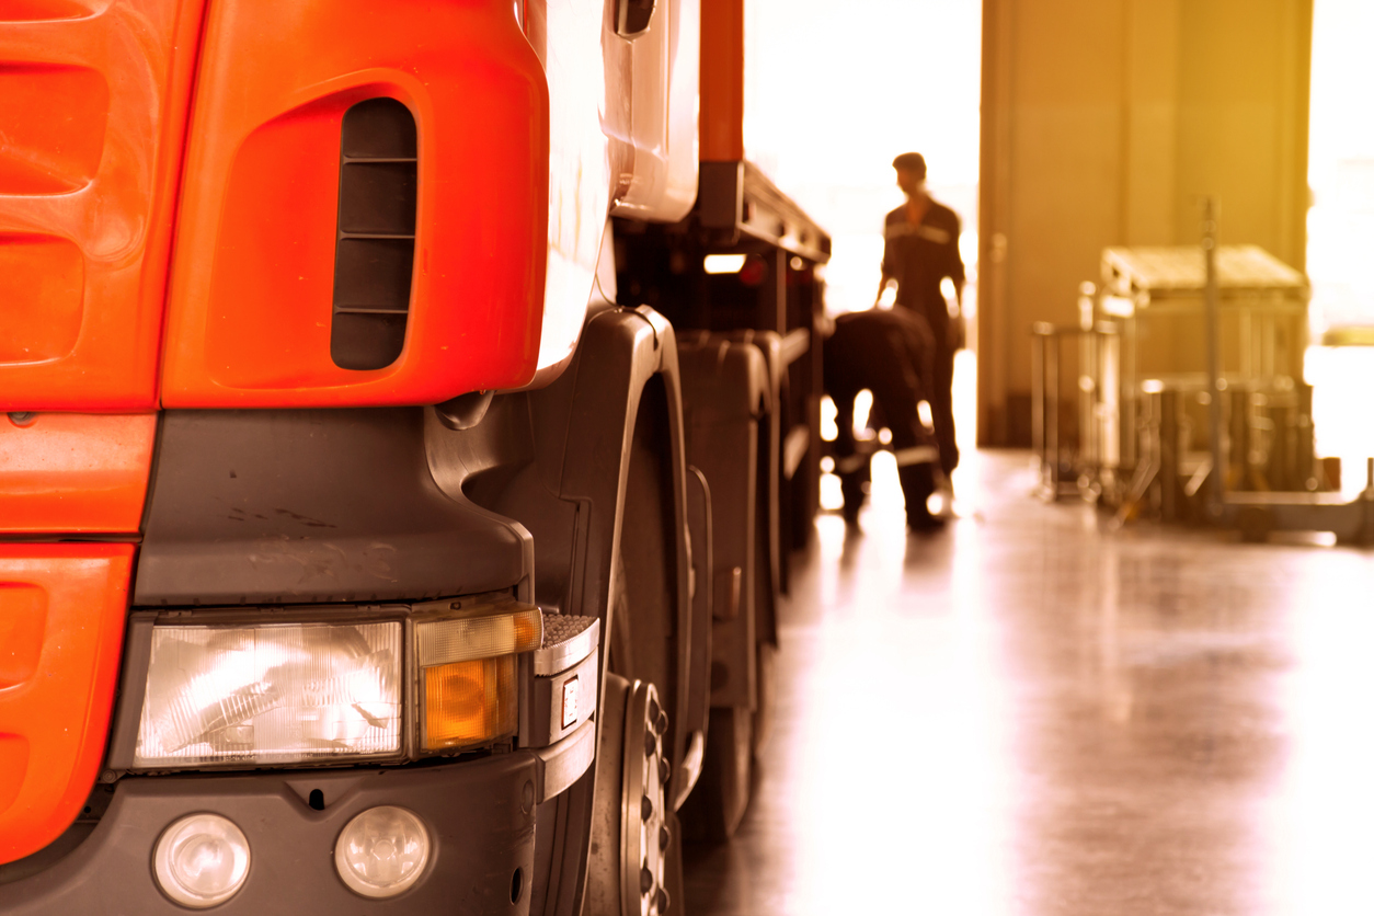
<svg viewBox="0 0 1374 916"><path fill-rule="evenodd" d="M1028 445L1033 321L1073 324L1109 244L1301 268L1312 0L984 0L978 441Z"/></svg>

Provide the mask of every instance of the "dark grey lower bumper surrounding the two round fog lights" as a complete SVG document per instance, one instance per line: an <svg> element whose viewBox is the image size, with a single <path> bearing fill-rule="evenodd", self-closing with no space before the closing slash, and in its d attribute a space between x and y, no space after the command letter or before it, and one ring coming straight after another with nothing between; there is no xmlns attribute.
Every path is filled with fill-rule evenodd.
<svg viewBox="0 0 1374 916"><path fill-rule="evenodd" d="M0 913L187 916L158 890L153 847L177 818L223 814L247 836L243 887L218 916L265 913L528 913L534 862L536 757L521 751L464 764L120 780L81 846L51 868L0 886ZM323 810L311 808L312 791ZM319 803L320 797L316 797ZM359 813L397 805L434 842L420 880L390 900L350 891L334 842Z"/></svg>

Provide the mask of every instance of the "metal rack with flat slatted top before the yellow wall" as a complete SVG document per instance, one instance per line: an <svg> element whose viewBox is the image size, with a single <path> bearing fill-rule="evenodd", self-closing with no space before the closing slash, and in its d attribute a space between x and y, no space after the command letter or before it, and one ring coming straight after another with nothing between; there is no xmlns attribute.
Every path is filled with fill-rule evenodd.
<svg viewBox="0 0 1374 916"><path fill-rule="evenodd" d="M1106 249L1099 320L1120 327L1118 522L1149 493L1165 520L1226 492L1316 489L1303 382L1307 279L1257 246ZM1204 489L1204 483L1210 485Z"/></svg>

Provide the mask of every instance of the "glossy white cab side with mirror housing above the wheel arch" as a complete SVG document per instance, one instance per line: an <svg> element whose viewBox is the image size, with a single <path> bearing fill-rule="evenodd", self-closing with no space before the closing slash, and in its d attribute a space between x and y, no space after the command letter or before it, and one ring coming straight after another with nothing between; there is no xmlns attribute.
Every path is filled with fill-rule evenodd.
<svg viewBox="0 0 1374 916"><path fill-rule="evenodd" d="M699 0L616 30L617 0L526 0L550 103L548 268L536 385L577 346L607 214L676 222L697 201Z"/></svg>

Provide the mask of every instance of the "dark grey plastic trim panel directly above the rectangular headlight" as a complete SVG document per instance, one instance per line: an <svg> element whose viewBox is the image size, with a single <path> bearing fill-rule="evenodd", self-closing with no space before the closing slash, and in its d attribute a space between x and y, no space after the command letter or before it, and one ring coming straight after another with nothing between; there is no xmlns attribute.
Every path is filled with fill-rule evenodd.
<svg viewBox="0 0 1374 916"><path fill-rule="evenodd" d="M168 411L133 604L367 603L528 589L529 534L425 456L423 408Z"/></svg>

